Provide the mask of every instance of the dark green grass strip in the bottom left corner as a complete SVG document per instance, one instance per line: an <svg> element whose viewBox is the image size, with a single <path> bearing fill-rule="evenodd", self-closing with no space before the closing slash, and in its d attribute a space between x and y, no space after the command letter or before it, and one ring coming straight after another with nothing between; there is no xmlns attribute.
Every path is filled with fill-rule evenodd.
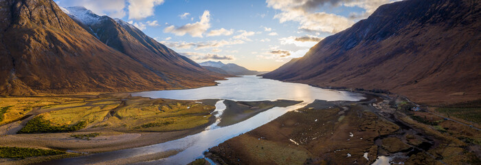
<svg viewBox="0 0 481 165"><path fill-rule="evenodd" d="M0 146L1 158L25 159L27 157L60 155L63 153L65 152L56 151L56 150L37 149L37 148L19 148L19 147Z"/></svg>

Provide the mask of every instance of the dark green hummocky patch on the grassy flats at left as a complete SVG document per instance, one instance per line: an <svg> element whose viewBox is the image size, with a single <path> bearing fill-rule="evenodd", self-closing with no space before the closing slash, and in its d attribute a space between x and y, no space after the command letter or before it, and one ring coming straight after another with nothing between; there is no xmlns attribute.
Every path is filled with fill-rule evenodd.
<svg viewBox="0 0 481 165"><path fill-rule="evenodd" d="M77 131L85 128L87 122L80 121L77 124L69 126L67 124L61 126L54 126L49 120L43 119L43 116L36 116L32 120L28 121L27 124L18 133L58 133L58 132L71 132Z"/></svg>

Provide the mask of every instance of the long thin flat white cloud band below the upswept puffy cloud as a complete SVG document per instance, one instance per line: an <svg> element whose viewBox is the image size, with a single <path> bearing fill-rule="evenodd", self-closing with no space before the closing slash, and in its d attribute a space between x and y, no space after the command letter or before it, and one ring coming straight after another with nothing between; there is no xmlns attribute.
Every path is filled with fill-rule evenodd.
<svg viewBox="0 0 481 165"><path fill-rule="evenodd" d="M214 47L223 47L225 45L236 45L236 44L243 44L244 41L242 40L231 40L231 41L201 41L197 43L188 43L185 41L181 42L171 42L171 41L161 41L160 43L167 45L168 47L176 47L178 49L190 49L194 47L195 50L207 49L207 48L214 48Z"/></svg>

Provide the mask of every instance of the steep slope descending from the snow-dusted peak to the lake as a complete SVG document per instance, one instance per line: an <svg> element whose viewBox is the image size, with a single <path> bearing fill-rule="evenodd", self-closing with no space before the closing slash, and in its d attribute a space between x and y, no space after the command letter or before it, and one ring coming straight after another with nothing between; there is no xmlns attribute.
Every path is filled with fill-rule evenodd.
<svg viewBox="0 0 481 165"><path fill-rule="evenodd" d="M184 87L192 83L192 80L209 80L214 74L125 21L100 17L83 7L70 7L67 10L72 19L102 43L141 63L157 76L164 78L172 87Z"/></svg>

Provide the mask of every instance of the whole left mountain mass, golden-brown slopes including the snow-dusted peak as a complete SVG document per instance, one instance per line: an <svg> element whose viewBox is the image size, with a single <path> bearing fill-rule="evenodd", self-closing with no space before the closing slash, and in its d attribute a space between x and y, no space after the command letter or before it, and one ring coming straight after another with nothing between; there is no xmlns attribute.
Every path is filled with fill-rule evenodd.
<svg viewBox="0 0 481 165"><path fill-rule="evenodd" d="M109 17L69 11L74 21L52 0L3 0L0 9L1 95L178 89L221 79Z"/></svg>

